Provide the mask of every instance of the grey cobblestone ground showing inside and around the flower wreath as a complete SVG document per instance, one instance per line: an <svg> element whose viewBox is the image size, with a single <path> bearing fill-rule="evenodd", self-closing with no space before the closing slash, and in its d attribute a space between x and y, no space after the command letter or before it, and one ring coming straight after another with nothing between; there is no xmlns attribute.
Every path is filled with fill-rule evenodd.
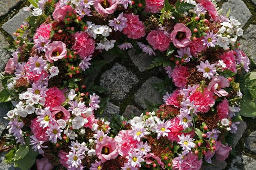
<svg viewBox="0 0 256 170"><path fill-rule="evenodd" d="M242 50L256 61L256 0L216 0L222 6L223 14L231 8L231 16L236 17L245 30L240 39ZM4 47L13 47L12 32L22 23L29 12L22 9L26 0L0 0L0 70L4 68L10 54ZM127 118L140 115L147 103L161 103L159 95L152 84L163 80L162 70L147 70L153 57L144 53L136 54L128 51L127 56L104 56L109 64L96 76L95 83L108 89L105 96L110 97L102 117L109 119L121 114ZM1 88L1 86L0 86ZM0 103L0 136L5 130L7 121L3 119L10 109ZM243 118L234 136L236 155L223 162L213 160L217 167L204 166L202 170L255 170L256 169L256 120ZM0 154L0 170L14 170L3 161L4 153Z"/></svg>

